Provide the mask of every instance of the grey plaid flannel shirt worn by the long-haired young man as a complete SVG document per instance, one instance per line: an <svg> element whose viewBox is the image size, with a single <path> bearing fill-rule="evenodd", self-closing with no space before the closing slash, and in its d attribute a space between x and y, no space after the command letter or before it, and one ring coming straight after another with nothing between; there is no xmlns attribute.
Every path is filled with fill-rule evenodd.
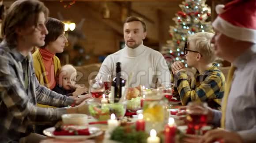
<svg viewBox="0 0 256 143"><path fill-rule="evenodd" d="M21 64L25 59L27 89ZM39 84L32 59L31 54L26 58L16 48L0 43L0 143L18 142L32 132L34 124L55 122L67 112L65 108L37 107L37 103L64 107L74 102Z"/></svg>

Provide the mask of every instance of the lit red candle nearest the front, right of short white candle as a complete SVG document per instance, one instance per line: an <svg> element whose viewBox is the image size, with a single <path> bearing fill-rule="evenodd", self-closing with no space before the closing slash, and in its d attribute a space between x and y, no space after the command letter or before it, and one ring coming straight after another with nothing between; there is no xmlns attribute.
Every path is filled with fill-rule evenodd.
<svg viewBox="0 0 256 143"><path fill-rule="evenodd" d="M165 126L165 143L175 143L176 125L173 118L169 118Z"/></svg>

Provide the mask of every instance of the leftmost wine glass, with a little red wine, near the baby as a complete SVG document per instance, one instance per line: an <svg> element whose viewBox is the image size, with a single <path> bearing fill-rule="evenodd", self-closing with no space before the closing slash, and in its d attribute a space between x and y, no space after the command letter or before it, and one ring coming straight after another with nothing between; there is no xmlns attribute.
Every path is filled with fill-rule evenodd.
<svg viewBox="0 0 256 143"><path fill-rule="evenodd" d="M102 80L91 79L90 80L90 94L93 98L101 98L105 92L105 86Z"/></svg>

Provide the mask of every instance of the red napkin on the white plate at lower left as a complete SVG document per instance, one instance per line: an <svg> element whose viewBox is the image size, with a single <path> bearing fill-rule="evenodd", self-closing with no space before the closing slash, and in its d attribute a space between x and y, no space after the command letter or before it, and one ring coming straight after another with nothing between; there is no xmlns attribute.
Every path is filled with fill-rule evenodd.
<svg viewBox="0 0 256 143"><path fill-rule="evenodd" d="M76 131L69 131L69 130L61 130L61 131L54 131L53 135L55 136L73 136L73 135L90 135L89 129L79 129Z"/></svg>

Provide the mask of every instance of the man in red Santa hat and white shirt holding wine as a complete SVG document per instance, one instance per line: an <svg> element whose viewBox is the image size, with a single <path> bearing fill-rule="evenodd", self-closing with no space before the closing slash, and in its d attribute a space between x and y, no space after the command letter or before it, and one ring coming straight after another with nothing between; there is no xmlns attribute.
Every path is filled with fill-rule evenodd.
<svg viewBox="0 0 256 143"><path fill-rule="evenodd" d="M256 0L234 0L216 7L211 43L215 54L232 63L222 111L210 108L208 122L222 129L184 139L188 143L256 143ZM200 111L200 110L199 110Z"/></svg>

